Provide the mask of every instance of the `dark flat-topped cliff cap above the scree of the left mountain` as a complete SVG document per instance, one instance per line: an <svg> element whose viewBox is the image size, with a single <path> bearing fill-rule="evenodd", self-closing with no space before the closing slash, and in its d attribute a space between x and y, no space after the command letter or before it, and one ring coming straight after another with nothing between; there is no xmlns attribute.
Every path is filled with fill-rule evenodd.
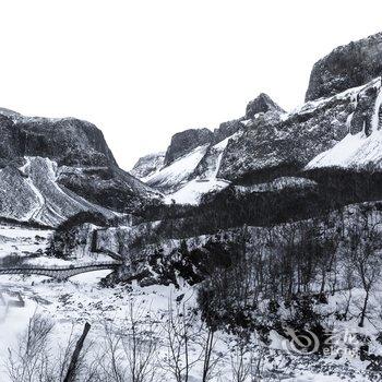
<svg viewBox="0 0 382 382"><path fill-rule="evenodd" d="M117 166L104 135L94 124L75 118L29 118L0 114L0 156L47 157L59 166Z"/></svg>

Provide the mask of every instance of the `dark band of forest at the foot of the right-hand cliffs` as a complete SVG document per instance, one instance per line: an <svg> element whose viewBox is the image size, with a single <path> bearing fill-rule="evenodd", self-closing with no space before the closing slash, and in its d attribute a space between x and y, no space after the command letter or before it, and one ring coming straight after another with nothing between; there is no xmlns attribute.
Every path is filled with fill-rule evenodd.
<svg viewBox="0 0 382 382"><path fill-rule="evenodd" d="M214 234L219 229L247 225L272 226L320 217L330 211L366 201L382 200L382 172L324 168L296 172L294 166L261 171L250 179L272 181L278 176L300 176L314 180L315 188L285 188L276 192L238 193L232 186L219 193L207 194L199 206L151 205L143 219L162 220L158 237L186 238ZM242 180L249 183L249 179ZM156 238L153 238L155 241Z"/></svg>

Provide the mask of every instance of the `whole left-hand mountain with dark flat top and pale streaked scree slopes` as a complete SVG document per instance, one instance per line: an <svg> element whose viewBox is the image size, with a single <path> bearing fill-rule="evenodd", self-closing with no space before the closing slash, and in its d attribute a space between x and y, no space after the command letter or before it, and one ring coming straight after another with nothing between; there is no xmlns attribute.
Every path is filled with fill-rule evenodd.
<svg viewBox="0 0 382 382"><path fill-rule="evenodd" d="M57 226L81 211L112 217L155 196L118 167L89 122L0 109L0 134L2 217Z"/></svg>

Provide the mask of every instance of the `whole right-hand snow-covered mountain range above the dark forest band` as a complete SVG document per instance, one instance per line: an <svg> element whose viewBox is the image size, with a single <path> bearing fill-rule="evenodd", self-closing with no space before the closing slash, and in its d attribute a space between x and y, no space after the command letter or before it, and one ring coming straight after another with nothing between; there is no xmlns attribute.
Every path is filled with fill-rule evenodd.
<svg viewBox="0 0 382 382"><path fill-rule="evenodd" d="M244 117L214 132L177 133L164 166L141 180L164 192L167 202L198 204L204 193L275 168L284 168L279 176L293 176L288 168L381 169L381 46L377 34L320 60L307 103L294 111L261 94Z"/></svg>

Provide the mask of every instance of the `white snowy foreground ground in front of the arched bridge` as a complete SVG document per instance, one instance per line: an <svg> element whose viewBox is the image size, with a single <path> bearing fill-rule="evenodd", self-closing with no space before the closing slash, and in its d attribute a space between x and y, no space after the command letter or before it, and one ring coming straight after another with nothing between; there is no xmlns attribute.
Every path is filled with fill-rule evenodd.
<svg viewBox="0 0 382 382"><path fill-rule="evenodd" d="M17 336L25 330L29 318L35 313L43 313L51 317L56 322L55 338L56 345L64 345L64 341L73 329L80 333L85 322L92 324L89 341L94 341L93 347L100 346L104 337L105 322L114 326L123 325L128 315L131 302L138 310L144 310L142 317L155 318L159 320L159 326L166 326L168 320L169 303L176 306L177 299L182 295L182 301L187 301L189 307L195 305L195 289L183 286L175 289L172 286L152 286L141 288L133 286L127 288L117 286L115 288L103 288L98 282L107 272L80 275L67 283L47 282L43 277L20 276L1 278L0 285L2 294L19 293L25 301L24 308L12 308L9 310L4 322L0 323L0 354L7 354L9 347L14 347ZM199 319L194 323L193 330L200 333ZM218 333L214 345L213 359L216 360L215 375L212 381L231 382L234 381L232 367L237 359L235 351L236 337L224 333ZM332 382L332 381L360 381L367 382L369 379L363 375L367 362L357 360L349 361L334 358L319 360L310 356L298 356L288 354L279 344L274 341L271 346L261 345L253 337L253 354L246 355L243 362L249 365L255 362L263 375L261 381L289 381L289 382ZM166 359L168 344L164 333L162 333L160 350L158 359ZM200 357L201 346L198 341L192 343L190 357L195 360ZM253 358L254 357L254 358ZM236 365L237 366L237 365ZM320 367L319 367L320 366ZM201 381L202 361L196 362L190 372L190 381ZM0 380L9 382L7 372L0 369ZM346 377L351 370L355 374ZM172 381L170 373L157 370L159 381ZM350 375L350 374L348 374ZM248 379L250 381L250 379Z"/></svg>

